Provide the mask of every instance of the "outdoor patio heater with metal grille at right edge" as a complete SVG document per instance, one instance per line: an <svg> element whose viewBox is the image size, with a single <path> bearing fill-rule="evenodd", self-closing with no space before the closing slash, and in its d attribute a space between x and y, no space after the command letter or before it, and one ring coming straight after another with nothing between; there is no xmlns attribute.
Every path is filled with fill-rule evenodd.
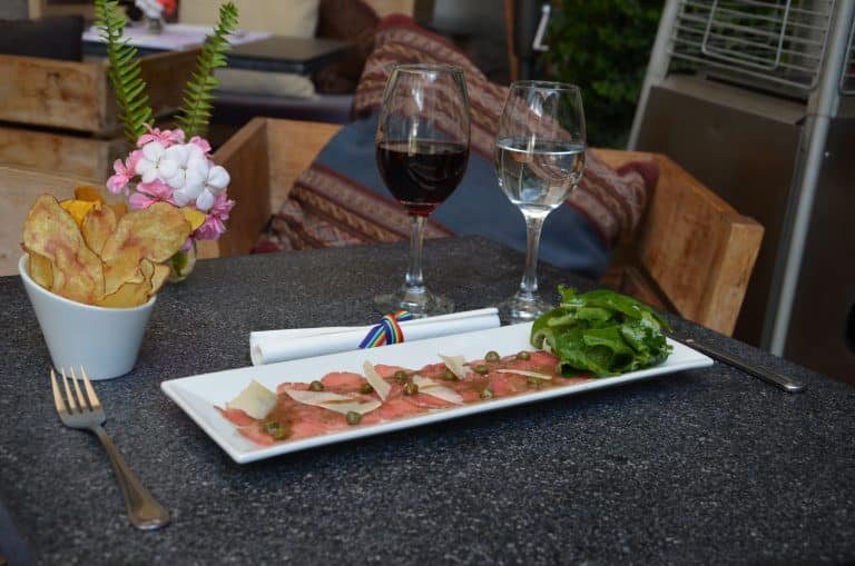
<svg viewBox="0 0 855 566"><path fill-rule="evenodd" d="M668 0L630 149L766 228L735 336L855 373L855 0Z"/></svg>

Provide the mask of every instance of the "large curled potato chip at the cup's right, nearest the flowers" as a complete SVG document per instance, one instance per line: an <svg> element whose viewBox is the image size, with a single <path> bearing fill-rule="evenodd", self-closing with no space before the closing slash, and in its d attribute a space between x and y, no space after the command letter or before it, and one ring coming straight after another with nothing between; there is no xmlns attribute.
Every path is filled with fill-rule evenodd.
<svg viewBox="0 0 855 566"><path fill-rule="evenodd" d="M137 272L140 260L166 261L181 249L190 225L180 210L167 202L125 215L101 249L105 294L116 292Z"/></svg>

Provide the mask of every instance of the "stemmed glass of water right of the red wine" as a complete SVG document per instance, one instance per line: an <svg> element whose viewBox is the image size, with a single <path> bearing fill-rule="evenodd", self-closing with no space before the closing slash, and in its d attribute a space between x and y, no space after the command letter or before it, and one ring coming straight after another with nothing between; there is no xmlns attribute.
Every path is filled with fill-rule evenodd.
<svg viewBox="0 0 855 566"><path fill-rule="evenodd" d="M525 268L517 294L500 305L510 324L552 308L538 294L538 251L547 216L561 206L584 170L584 112L578 87L560 82L511 85L499 121L495 169L499 186L525 219Z"/></svg>

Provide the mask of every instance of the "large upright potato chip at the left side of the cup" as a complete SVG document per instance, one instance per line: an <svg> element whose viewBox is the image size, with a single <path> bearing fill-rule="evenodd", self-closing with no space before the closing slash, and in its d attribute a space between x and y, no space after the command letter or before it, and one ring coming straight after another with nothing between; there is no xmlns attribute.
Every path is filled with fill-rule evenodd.
<svg viewBox="0 0 855 566"><path fill-rule="evenodd" d="M23 246L52 264L52 292L89 305L104 296L101 260L86 247L75 218L50 195L36 199L27 215Z"/></svg>

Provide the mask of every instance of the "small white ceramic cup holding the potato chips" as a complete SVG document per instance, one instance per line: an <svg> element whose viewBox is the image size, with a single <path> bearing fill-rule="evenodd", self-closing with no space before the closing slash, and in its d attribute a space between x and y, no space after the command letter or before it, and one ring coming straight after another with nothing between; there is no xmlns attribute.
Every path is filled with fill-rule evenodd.
<svg viewBox="0 0 855 566"><path fill-rule="evenodd" d="M138 307L92 307L60 297L33 281L27 255L18 261L18 271L53 367L69 371L82 366L90 379L110 379L134 369L156 296Z"/></svg>

